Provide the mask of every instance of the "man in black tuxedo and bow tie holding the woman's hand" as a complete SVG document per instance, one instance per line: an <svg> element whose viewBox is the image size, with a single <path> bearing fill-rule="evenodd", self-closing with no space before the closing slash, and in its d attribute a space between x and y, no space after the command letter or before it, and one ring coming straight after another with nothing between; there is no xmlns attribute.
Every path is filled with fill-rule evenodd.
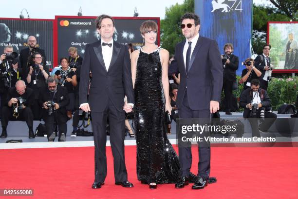
<svg viewBox="0 0 298 199"><path fill-rule="evenodd" d="M101 188L107 176L106 123L110 120L110 141L114 157L115 184L133 187L127 180L124 158L125 110L130 112L134 95L128 47L113 40L114 20L101 15L95 20L101 40L86 45L81 67L80 108L91 111L95 145L95 180L92 188ZM89 73L92 83L89 87ZM127 96L128 103L124 104Z"/></svg>

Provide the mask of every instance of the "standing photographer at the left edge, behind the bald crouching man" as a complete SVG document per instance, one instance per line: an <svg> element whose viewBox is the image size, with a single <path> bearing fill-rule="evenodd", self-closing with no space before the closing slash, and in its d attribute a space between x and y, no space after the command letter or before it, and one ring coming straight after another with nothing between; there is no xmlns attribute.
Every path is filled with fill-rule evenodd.
<svg viewBox="0 0 298 199"><path fill-rule="evenodd" d="M8 89L16 85L17 80L20 80L22 73L18 68L19 60L18 53L13 52L12 46L4 47L4 54L0 56L0 96L1 104L5 103ZM2 107L2 105L0 106ZM1 108L0 108L1 110Z"/></svg>

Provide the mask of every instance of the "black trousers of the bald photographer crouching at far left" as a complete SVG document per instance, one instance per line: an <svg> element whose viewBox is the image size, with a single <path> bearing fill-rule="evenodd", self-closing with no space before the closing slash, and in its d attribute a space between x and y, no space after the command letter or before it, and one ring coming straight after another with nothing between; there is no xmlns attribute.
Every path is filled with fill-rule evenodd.
<svg viewBox="0 0 298 199"><path fill-rule="evenodd" d="M32 130L33 113L31 108L26 107L20 110L18 118L14 117L13 114L14 114L14 111L12 107L8 107L8 106L2 107L2 117L1 117L2 129L6 129L9 120L21 120L21 121L26 121L28 128Z"/></svg>

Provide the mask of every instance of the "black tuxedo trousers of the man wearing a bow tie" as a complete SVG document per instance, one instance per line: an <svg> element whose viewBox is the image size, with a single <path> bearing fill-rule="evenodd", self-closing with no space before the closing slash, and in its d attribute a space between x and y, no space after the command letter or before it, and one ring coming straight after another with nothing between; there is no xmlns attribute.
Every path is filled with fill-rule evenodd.
<svg viewBox="0 0 298 199"><path fill-rule="evenodd" d="M125 112L118 111L109 100L103 112L93 112L91 109L92 127L95 146L95 180L104 182L107 176L106 142L107 118L110 121L110 142L114 159L115 182L127 180L127 170L124 158Z"/></svg>

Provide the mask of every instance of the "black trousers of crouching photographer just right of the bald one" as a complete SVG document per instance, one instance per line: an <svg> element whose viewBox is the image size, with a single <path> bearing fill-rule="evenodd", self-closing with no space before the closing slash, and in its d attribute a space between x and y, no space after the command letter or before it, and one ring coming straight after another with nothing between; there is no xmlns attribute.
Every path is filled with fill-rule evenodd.
<svg viewBox="0 0 298 199"><path fill-rule="evenodd" d="M48 139L51 136L51 134L53 132L55 132L56 125L58 125L58 129L59 129L58 139L60 139L62 133L64 133L66 136L66 132L67 132L67 125L66 125L67 116L66 116L66 114L64 115L59 112L54 112L49 116L47 111L45 111L43 118L44 118L45 125L47 128Z"/></svg>

